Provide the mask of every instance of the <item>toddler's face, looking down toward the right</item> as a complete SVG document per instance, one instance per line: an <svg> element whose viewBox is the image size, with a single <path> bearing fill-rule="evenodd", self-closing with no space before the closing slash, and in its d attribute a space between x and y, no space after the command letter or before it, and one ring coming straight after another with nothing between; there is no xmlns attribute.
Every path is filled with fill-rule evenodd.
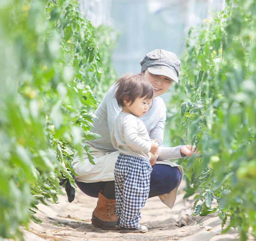
<svg viewBox="0 0 256 241"><path fill-rule="evenodd" d="M137 117L142 117L148 111L151 101L152 99L145 99L145 97L137 98L132 105L130 105L131 101L127 102L126 105L123 106L122 111Z"/></svg>

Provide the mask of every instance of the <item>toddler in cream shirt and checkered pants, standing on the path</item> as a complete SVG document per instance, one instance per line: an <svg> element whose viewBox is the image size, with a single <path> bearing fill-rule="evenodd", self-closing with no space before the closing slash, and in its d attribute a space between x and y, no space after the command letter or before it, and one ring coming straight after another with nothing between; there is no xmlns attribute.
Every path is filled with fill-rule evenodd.
<svg viewBox="0 0 256 241"><path fill-rule="evenodd" d="M117 103L122 107L113 123L111 141L119 154L114 168L116 215L120 232L141 232L140 209L149 195L151 153L158 150L157 139L151 141L142 117L149 110L154 89L142 75L128 74L115 86Z"/></svg>

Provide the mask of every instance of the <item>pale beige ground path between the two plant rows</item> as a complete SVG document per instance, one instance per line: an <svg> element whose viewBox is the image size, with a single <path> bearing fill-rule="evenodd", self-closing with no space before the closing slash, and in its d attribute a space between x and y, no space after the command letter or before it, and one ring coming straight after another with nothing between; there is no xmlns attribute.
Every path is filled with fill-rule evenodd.
<svg viewBox="0 0 256 241"><path fill-rule="evenodd" d="M39 204L36 216L42 220L42 223L31 223L29 231L23 230L25 241L234 241L239 239L238 232L234 229L228 234L221 234L221 220L217 217L217 213L192 217L194 200L192 197L183 199L183 196L184 192L180 188L172 209L165 206L159 197L149 198L142 209L140 220L140 224L147 226L149 231L144 234L121 234L119 231L106 231L92 226L90 219L97 199L86 196L77 189L72 203L68 202L66 195L60 195L58 204L50 202L49 206ZM184 220L184 226L179 227L180 220Z"/></svg>

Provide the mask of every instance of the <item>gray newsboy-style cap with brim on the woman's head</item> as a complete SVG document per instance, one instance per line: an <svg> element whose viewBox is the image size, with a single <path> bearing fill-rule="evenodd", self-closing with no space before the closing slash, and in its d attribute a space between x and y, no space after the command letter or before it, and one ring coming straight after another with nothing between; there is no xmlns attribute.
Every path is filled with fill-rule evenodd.
<svg viewBox="0 0 256 241"><path fill-rule="evenodd" d="M143 60L140 61L140 65L142 66L142 72L148 69L151 74L164 75L178 83L181 61L172 52L155 49L146 54Z"/></svg>

